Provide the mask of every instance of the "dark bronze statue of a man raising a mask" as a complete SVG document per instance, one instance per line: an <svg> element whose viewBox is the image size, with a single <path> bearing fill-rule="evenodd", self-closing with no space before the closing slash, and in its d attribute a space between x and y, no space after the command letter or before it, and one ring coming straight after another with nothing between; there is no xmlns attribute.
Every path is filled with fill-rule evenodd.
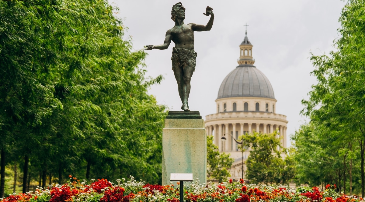
<svg viewBox="0 0 365 202"><path fill-rule="evenodd" d="M197 53L194 52L194 31L209 31L213 25L214 14L212 8L207 7L204 15L211 15L207 25L184 24L185 8L180 2L175 4L171 10L171 19L175 21L175 26L166 32L164 43L146 46L146 50L164 50L169 47L171 40L175 43L175 47L172 48L172 70L177 81L181 102L183 102L181 109L184 111L190 111L188 105L190 80L196 64Z"/></svg>

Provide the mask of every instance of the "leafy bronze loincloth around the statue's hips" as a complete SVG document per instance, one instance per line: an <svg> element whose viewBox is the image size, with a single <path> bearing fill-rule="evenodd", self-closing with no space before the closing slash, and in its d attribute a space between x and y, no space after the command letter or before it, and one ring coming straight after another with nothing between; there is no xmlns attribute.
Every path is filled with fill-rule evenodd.
<svg viewBox="0 0 365 202"><path fill-rule="evenodd" d="M195 65L196 65L196 52L192 52L191 50L185 49L185 48L172 48L172 69L174 68L180 68L185 67L186 65L189 65L193 68L195 72Z"/></svg>

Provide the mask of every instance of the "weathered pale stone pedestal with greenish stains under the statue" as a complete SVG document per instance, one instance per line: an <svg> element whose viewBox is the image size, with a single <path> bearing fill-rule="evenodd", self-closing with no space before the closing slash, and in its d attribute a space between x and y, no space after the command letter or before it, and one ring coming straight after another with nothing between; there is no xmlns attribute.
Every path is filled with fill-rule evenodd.
<svg viewBox="0 0 365 202"><path fill-rule="evenodd" d="M199 111L170 111L162 130L162 185L171 173L192 173L207 182L207 136ZM176 182L174 182L176 187Z"/></svg>

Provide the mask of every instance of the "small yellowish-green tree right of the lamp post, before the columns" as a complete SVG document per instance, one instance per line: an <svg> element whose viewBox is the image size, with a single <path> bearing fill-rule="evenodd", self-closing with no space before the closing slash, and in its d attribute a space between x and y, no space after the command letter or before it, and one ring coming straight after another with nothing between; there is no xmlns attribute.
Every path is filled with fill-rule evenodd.
<svg viewBox="0 0 365 202"><path fill-rule="evenodd" d="M253 132L240 136L243 146L250 148L246 161L246 178L251 182L284 184L294 177L292 157L282 150L277 136L277 131L271 134ZM285 155L285 159L282 155Z"/></svg>

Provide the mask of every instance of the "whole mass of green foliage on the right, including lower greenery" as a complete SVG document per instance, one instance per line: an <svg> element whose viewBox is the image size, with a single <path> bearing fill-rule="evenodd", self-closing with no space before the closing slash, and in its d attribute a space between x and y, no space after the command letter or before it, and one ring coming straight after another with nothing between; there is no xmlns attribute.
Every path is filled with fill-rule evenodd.
<svg viewBox="0 0 365 202"><path fill-rule="evenodd" d="M364 4L364 0L347 1L339 19L341 37L334 41L337 51L329 55L312 55L311 61L316 67L312 74L318 84L308 93L309 100L302 101L305 106L302 113L311 121L293 138L298 148L295 159L299 162L299 183L310 180L311 185L316 185L342 180L345 182L342 183L343 191L351 194L353 179L361 178L362 196L365 195ZM300 160L305 156L309 162ZM320 170L323 168L327 169L327 174ZM312 176L308 173L310 169ZM305 176L310 178L305 180ZM341 186L338 188L340 191ZM357 192L360 193L360 189Z"/></svg>

